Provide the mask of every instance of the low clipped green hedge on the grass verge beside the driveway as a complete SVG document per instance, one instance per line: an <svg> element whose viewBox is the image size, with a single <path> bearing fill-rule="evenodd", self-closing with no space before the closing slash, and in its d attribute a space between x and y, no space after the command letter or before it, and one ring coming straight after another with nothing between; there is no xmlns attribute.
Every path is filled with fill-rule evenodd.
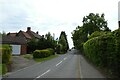
<svg viewBox="0 0 120 80"><path fill-rule="evenodd" d="M45 49L45 50L35 50L33 52L33 58L45 58L50 55L53 55L54 50L52 49Z"/></svg>

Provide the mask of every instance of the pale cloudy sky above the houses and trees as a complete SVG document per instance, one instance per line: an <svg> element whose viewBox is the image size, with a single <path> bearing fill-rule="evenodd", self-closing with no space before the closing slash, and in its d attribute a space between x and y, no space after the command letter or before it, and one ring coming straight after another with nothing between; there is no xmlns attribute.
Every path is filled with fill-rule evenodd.
<svg viewBox="0 0 120 80"><path fill-rule="evenodd" d="M38 31L40 35L50 32L55 38L61 31L67 34L70 48L73 46L71 32L82 25L89 13L105 14L108 27L118 28L119 0L0 0L0 32ZM119 6L120 7L120 6ZM120 14L120 12L119 12Z"/></svg>

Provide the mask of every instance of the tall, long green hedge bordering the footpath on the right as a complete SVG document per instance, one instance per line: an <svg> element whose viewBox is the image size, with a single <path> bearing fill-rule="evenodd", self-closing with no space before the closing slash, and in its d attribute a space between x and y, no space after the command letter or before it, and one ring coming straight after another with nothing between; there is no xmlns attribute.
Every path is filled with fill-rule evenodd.
<svg viewBox="0 0 120 80"><path fill-rule="evenodd" d="M85 56L91 62L107 68L112 75L120 77L120 40L115 37L114 32L114 34L91 38L84 43L83 48Z"/></svg>

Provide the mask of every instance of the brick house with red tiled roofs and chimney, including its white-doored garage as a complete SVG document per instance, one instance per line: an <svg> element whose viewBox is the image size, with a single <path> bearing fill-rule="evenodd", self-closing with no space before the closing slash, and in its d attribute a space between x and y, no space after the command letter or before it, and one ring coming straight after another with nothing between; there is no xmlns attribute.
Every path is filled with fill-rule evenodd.
<svg viewBox="0 0 120 80"><path fill-rule="evenodd" d="M39 39L41 36L38 32L33 32L31 27L27 27L27 31L20 30L18 33L8 33L2 38L2 44L10 44L12 46L12 54L23 55L27 53L27 42L31 39Z"/></svg>

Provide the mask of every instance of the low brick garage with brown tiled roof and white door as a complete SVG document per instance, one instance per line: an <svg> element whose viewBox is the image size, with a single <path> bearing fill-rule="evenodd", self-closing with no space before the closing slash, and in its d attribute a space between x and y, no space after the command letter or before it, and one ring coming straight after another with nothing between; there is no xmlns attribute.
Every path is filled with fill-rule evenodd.
<svg viewBox="0 0 120 80"><path fill-rule="evenodd" d="M21 36L3 36L0 42L11 46L13 55L23 55L27 53L27 41Z"/></svg>

